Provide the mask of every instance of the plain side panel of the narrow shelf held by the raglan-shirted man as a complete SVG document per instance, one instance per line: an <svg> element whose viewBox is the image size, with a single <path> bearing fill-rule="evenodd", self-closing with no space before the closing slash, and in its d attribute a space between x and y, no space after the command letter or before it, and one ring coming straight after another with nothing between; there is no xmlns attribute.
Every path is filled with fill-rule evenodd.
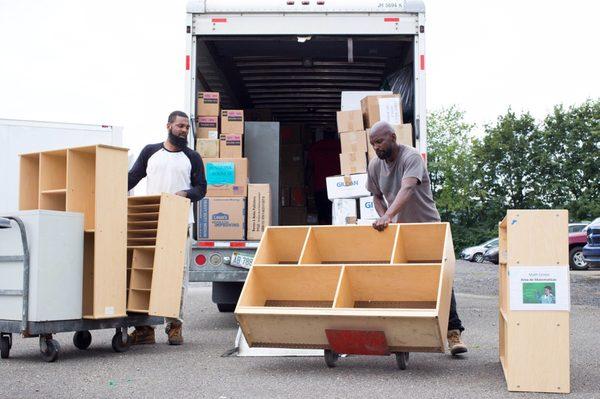
<svg viewBox="0 0 600 399"><path fill-rule="evenodd" d="M179 316L189 212L189 199L174 194L160 196L149 307L151 315Z"/></svg>

